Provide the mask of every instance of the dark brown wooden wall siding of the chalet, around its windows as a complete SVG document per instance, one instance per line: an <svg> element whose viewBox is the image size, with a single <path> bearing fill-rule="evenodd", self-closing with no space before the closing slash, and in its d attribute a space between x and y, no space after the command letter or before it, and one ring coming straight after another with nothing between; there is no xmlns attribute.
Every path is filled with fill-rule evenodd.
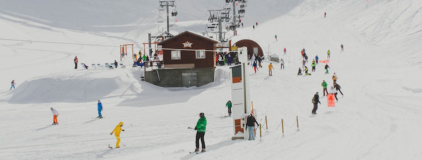
<svg viewBox="0 0 422 160"><path fill-rule="evenodd" d="M182 35L174 36L173 38L170 38L166 41L161 42L161 45L163 46L163 48L215 50L215 43L213 41L204 39L195 34L190 34L190 33L181 33L181 34ZM182 43L186 41L193 43L192 47L183 48ZM164 59L164 65L194 63L195 68L215 67L215 53L213 51L206 51L205 59L196 59L195 51L182 50L180 51L179 60L171 60L171 50L163 50L163 59Z"/></svg>

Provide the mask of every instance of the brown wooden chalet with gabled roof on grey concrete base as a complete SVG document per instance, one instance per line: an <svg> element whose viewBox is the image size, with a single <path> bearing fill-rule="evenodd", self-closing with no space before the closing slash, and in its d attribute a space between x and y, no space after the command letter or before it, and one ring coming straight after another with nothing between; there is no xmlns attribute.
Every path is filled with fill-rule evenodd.
<svg viewBox="0 0 422 160"><path fill-rule="evenodd" d="M164 69L145 73L145 81L162 87L202 86L214 81L217 40L185 31L158 43Z"/></svg>

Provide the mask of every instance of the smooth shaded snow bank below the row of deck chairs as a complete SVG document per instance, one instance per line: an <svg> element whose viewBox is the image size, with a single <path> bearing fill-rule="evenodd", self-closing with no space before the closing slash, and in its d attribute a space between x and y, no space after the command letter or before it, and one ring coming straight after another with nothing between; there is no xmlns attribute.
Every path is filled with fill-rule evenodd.
<svg viewBox="0 0 422 160"><path fill-rule="evenodd" d="M139 87L122 70L79 70L36 77L13 90L9 103L82 103L131 94ZM130 92L125 92L129 90Z"/></svg>

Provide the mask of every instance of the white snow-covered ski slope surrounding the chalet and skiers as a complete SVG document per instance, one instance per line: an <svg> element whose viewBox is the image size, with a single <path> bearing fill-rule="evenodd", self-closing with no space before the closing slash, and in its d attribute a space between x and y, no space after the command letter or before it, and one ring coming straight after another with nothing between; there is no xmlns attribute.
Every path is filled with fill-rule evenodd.
<svg viewBox="0 0 422 160"><path fill-rule="evenodd" d="M203 31L206 10L224 2L215 1L177 0L180 17L171 32ZM231 140L232 119L223 117L231 99L227 65L217 66L214 82L189 88L141 81L143 68L132 68L129 58L126 68L90 67L119 62L120 44L140 47L148 32L164 27L156 23L158 1L0 2L1 160L422 159L421 0L248 0L245 27L232 40L252 39L285 61L284 70L271 62L273 76L267 60L248 73L256 119L264 127L268 119L261 141L259 130L255 141ZM330 49L330 73L320 63L311 76L298 76L302 48L309 70ZM331 87L334 72L344 97L328 108L321 83ZM9 91L13 79L16 88ZM313 115L315 92L322 104ZM103 119L92 119L97 100ZM49 126L50 107L59 112L59 125ZM201 112L207 152L189 154L196 132L187 128ZM119 122L121 147L109 149Z"/></svg>

